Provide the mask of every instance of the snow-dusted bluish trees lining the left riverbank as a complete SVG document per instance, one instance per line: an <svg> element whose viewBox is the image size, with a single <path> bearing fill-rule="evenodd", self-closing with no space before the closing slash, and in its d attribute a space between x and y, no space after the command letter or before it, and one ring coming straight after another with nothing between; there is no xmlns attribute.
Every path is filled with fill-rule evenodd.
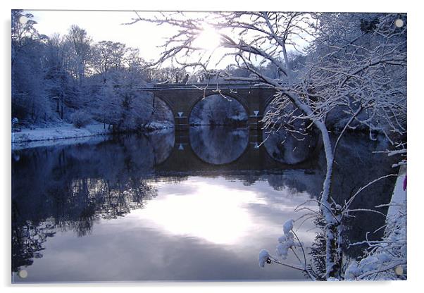
<svg viewBox="0 0 424 293"><path fill-rule="evenodd" d="M137 130L152 121L173 123L166 105L140 85L172 75L151 70L139 49L120 42L94 43L73 25L66 35L41 35L32 15L12 11L12 117L25 126L95 121Z"/></svg>

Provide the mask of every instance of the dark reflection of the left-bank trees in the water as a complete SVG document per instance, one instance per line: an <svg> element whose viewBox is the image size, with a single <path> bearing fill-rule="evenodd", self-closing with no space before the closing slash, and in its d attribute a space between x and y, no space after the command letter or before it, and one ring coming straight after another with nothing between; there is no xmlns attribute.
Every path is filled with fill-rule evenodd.
<svg viewBox="0 0 424 293"><path fill-rule="evenodd" d="M149 174L155 154L172 149L161 142L170 140L126 136L22 151L12 165L12 270L42 257L56 231L87 235L96 220L124 216L156 197Z"/></svg>

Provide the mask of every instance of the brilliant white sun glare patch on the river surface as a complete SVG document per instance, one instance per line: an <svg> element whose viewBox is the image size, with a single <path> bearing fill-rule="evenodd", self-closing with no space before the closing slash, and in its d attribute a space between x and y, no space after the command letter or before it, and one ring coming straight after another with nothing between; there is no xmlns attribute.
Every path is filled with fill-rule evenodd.
<svg viewBox="0 0 424 293"><path fill-rule="evenodd" d="M181 182L180 186L188 193L167 194L149 201L146 208L139 211L139 218L173 235L199 237L215 244L235 244L255 227L249 204L265 204L254 192L199 178Z"/></svg>

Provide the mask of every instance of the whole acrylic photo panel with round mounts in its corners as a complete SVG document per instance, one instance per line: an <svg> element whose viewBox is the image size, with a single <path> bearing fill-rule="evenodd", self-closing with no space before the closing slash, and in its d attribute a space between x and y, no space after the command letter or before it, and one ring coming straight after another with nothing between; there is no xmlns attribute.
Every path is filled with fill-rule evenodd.
<svg viewBox="0 0 424 293"><path fill-rule="evenodd" d="M406 280L406 13L11 24L13 283Z"/></svg>

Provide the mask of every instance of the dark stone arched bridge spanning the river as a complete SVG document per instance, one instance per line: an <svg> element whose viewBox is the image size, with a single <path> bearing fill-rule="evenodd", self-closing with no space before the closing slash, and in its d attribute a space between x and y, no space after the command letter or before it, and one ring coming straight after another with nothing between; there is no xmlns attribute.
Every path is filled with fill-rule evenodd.
<svg viewBox="0 0 424 293"><path fill-rule="evenodd" d="M189 117L193 107L204 97L222 94L235 99L244 108L249 117L249 128L261 127L259 121L263 118L266 107L273 100L275 89L266 85L253 83L225 84L162 84L144 85L140 88L151 92L155 97L168 104L173 112L175 129L183 130L189 127Z"/></svg>

